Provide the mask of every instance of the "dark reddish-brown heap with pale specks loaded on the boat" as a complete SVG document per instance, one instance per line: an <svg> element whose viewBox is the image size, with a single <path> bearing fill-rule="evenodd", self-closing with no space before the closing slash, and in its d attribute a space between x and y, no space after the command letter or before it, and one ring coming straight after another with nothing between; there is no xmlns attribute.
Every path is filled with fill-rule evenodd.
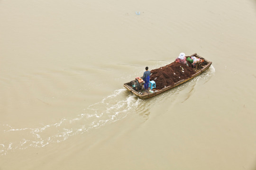
<svg viewBox="0 0 256 170"><path fill-rule="evenodd" d="M187 79L195 73L190 63L188 67L175 61L164 67L153 69L150 72L150 81L155 81L156 89L174 85L174 83L182 79Z"/></svg>

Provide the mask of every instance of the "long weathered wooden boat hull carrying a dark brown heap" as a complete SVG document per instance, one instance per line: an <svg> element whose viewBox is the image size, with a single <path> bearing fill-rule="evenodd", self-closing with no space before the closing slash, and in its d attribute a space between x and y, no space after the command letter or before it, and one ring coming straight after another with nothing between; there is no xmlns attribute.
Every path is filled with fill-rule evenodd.
<svg viewBox="0 0 256 170"><path fill-rule="evenodd" d="M128 83L125 83L124 84L124 87L131 93L135 94L137 97L141 98L141 99L148 99L148 98L151 98L151 97L154 97L160 93L164 93L178 85L181 85L189 80L191 80L192 78L200 75L201 73L203 73L204 71L206 71L208 68L210 68L210 65L211 65L211 61L208 61L207 59L204 59L202 58L201 56L199 56L197 53L194 53L192 54L191 56L189 57L192 57L192 56L195 56L196 58L199 58L201 59L201 61L203 62L198 62L196 63L194 66L193 66L193 69L195 70L195 73L190 76L189 78L187 79L182 79L182 80L179 80L178 82L174 83L174 85L169 85L169 86L166 86L162 89L158 89L158 90L146 90L144 87L142 87L143 85L141 83L139 83L141 81L140 78L142 77L136 77L135 80L132 80ZM137 81L136 81L137 80ZM137 86L140 86L141 88L137 88ZM157 86L157 85L156 85Z"/></svg>

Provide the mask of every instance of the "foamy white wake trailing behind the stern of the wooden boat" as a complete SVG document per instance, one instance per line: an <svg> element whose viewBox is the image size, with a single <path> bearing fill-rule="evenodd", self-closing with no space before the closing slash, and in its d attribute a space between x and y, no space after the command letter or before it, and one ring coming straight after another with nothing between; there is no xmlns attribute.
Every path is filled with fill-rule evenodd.
<svg viewBox="0 0 256 170"><path fill-rule="evenodd" d="M124 97L125 96L125 97ZM142 102L125 89L116 90L101 102L94 103L82 110L73 119L61 119L54 124L37 128L15 128L10 125L0 126L0 155L28 147L44 147L51 143L60 143L71 136L82 134L92 128L99 128L125 118L132 110L136 110Z"/></svg>

